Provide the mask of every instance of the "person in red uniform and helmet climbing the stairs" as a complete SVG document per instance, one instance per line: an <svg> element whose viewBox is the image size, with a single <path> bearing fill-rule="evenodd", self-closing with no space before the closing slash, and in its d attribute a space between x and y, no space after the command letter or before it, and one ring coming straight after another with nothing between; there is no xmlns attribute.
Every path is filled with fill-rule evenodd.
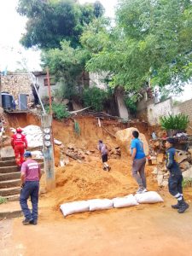
<svg viewBox="0 0 192 256"><path fill-rule="evenodd" d="M11 137L11 146L15 151L15 161L18 166L24 162L24 153L27 148L26 136L21 133L20 128L16 129L16 133Z"/></svg>

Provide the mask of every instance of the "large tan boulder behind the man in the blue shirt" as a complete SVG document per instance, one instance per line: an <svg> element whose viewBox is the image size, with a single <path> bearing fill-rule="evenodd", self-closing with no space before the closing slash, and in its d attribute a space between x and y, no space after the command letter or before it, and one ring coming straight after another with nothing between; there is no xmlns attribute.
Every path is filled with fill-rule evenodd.
<svg viewBox="0 0 192 256"><path fill-rule="evenodd" d="M131 127L124 130L117 131L115 137L119 145L125 148L127 153L131 153L131 139L132 139L132 131L138 131L137 128ZM146 137L143 133L139 134L139 138L143 141L143 148L146 155L148 155L149 148Z"/></svg>

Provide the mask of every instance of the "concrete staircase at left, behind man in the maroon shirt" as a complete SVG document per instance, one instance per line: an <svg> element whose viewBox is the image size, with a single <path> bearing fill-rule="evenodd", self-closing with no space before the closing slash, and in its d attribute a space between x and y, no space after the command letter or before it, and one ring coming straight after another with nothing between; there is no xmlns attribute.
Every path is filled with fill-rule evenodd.
<svg viewBox="0 0 192 256"><path fill-rule="evenodd" d="M43 160L38 160L44 168ZM21 215L20 197L20 167L15 164L15 157L3 157L0 160L0 196L6 203L0 205L0 219L14 218Z"/></svg>

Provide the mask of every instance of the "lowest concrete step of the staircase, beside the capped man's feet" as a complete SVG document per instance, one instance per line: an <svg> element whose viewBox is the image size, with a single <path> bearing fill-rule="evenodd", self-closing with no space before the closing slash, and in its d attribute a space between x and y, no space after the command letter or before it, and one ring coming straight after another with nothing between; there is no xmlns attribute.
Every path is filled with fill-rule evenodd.
<svg viewBox="0 0 192 256"><path fill-rule="evenodd" d="M8 201L0 205L0 219L16 218L20 216L22 216L22 212L18 201Z"/></svg>

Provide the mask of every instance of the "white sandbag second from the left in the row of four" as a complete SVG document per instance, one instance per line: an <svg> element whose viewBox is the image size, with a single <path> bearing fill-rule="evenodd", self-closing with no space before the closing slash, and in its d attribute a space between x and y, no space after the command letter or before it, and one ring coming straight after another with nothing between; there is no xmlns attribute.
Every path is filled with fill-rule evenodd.
<svg viewBox="0 0 192 256"><path fill-rule="evenodd" d="M113 201L109 199L92 199L89 200L90 212L97 210L108 210L113 208Z"/></svg>

